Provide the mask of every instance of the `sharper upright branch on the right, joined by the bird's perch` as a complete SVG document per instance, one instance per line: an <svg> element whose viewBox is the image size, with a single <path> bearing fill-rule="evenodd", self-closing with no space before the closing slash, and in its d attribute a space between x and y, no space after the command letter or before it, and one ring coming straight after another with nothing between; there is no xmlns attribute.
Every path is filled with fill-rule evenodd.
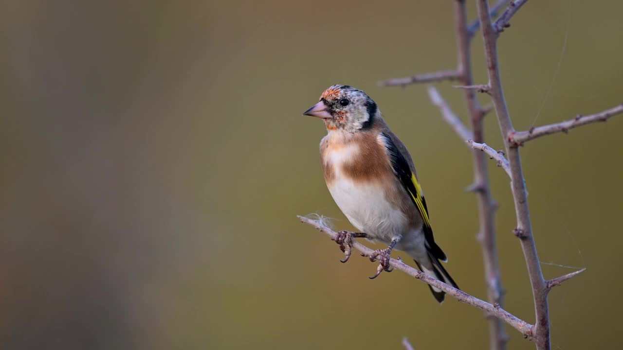
<svg viewBox="0 0 623 350"><path fill-rule="evenodd" d="M525 2L525 1L523 1ZM509 10L516 8L513 6L515 2L511 2ZM541 272L541 265L536 253L535 240L532 233L532 224L530 222L530 212L528 210L528 199L526 194L526 186L521 169L521 158L519 149L516 144L509 142L509 135L515 131L511 123L506 100L502 89L502 81L500 80L500 69L497 59L497 39L498 30L491 23L489 15L489 6L487 0L477 0L478 17L482 25L482 37L485 45L485 56L487 57L488 77L493 106L497 114L500 131L506 148L506 154L511 169L511 190L513 192L513 200L515 202L515 213L517 218L517 227L514 230L515 235L520 239L521 249L526 260L530 284L532 286L532 294L535 303L535 330L533 331L536 348L540 350L550 349L549 344L549 314L547 301L547 286ZM507 11L509 11L507 10ZM515 10L516 11L516 10ZM510 19L513 13L505 16Z"/></svg>

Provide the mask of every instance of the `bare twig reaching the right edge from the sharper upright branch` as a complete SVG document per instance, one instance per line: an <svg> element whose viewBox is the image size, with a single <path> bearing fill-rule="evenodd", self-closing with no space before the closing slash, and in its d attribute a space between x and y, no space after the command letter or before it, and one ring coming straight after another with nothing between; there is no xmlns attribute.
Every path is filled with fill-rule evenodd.
<svg viewBox="0 0 623 350"><path fill-rule="evenodd" d="M508 141L515 145L520 145L526 141L540 138L541 136L551 135L554 133L568 133L569 130L577 128L578 126L587 125L591 123L597 123L597 121L606 121L612 116L623 113L623 103L621 105L610 108L609 110L601 111L592 115L578 115L571 120L566 120L561 123L538 126L528 131L516 131L510 133Z"/></svg>

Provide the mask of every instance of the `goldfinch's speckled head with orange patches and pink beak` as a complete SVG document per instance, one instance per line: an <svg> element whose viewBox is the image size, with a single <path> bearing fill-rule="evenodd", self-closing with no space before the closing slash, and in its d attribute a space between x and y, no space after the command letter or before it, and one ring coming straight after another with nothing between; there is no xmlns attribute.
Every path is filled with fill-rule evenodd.
<svg viewBox="0 0 623 350"><path fill-rule="evenodd" d="M365 92L348 85L333 85L303 115L322 118L328 130L354 132L371 126L377 113L376 103Z"/></svg>

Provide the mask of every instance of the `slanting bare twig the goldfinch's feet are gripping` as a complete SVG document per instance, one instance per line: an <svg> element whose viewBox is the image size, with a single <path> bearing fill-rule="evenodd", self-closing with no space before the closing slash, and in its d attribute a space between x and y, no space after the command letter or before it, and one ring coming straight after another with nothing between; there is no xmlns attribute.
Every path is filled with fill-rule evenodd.
<svg viewBox="0 0 623 350"><path fill-rule="evenodd" d="M305 224L312 225L317 230L325 233L332 239L335 239L335 237L337 237L338 235L335 231L331 230L330 228L322 224L320 220L308 219L307 217L302 217L302 216L298 216L298 219L300 219L301 222ZM356 250L359 250L359 252L361 252L364 257L370 257L374 253L374 250L366 247L365 245L357 242L356 240L353 240L352 246ZM416 278L417 280L423 281L427 285L431 285L431 286L434 286L435 288L439 288L440 290L444 291L447 295L452 296L453 298L455 298L456 300L459 300L462 303L466 303L468 305L472 305L476 308L479 308L480 310L487 311L488 315L502 319L506 323L510 324L513 328L520 331L520 333L523 334L523 336L525 336L526 338L528 339L532 338L533 325L530 323L527 323L526 321L523 321L520 318L517 318L515 315L512 315L508 311L501 308L500 305L492 305L490 303L487 303L487 301L480 300L476 298L475 296L465 293L462 290L459 290L457 288L454 288L453 286L447 285L442 281L439 281L433 277L430 277L429 275L426 275L426 273L421 272L420 270L416 270L415 268L412 268L409 265L406 265L406 263L403 263L402 260L396 260L394 258L390 258L389 265L394 267L396 270L402 271L406 273L407 275Z"/></svg>

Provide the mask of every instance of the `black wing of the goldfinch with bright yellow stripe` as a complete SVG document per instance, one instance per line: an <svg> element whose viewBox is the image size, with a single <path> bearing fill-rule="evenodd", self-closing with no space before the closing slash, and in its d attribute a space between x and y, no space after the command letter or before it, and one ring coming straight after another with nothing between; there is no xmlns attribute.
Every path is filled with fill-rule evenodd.
<svg viewBox="0 0 623 350"><path fill-rule="evenodd" d="M445 253L439 248L439 245L435 243L435 239L432 235L426 200L424 200L424 194L422 194L422 187L417 181L416 169L413 165L411 154L409 154L409 151L407 151L402 141L391 131L383 131L383 136L387 140L386 148L389 158L391 158L394 174L396 174L396 177L402 183L402 186L411 197L411 201L415 204L417 211L422 217L424 237L426 238L426 244L430 253L432 253L435 258L444 261L447 260Z"/></svg>

